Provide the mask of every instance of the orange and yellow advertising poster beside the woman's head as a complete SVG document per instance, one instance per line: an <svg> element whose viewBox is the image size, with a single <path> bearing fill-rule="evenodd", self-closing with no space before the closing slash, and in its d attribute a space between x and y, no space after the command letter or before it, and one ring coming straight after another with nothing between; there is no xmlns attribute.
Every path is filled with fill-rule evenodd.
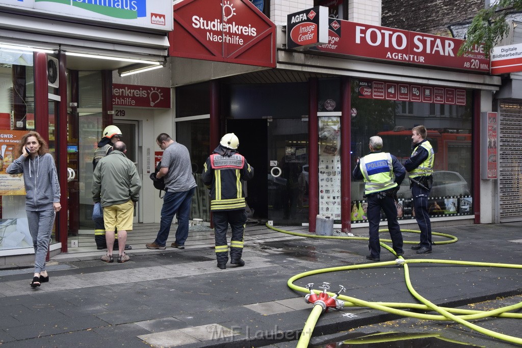
<svg viewBox="0 0 522 348"><path fill-rule="evenodd" d="M5 172L9 164L15 160L15 147L27 134L24 130L0 130L0 195L25 195L22 174L11 175Z"/></svg>

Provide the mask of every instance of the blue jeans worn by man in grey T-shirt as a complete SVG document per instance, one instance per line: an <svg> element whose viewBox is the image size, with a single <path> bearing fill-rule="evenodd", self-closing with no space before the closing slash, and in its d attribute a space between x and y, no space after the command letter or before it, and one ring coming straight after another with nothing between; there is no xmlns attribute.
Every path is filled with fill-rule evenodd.
<svg viewBox="0 0 522 348"><path fill-rule="evenodd" d="M154 243L165 246L167 238L169 238L170 225L174 214L177 213L177 230L176 241L177 245L185 245L188 237L188 215L191 212L192 196L196 188L193 187L188 191L183 192L167 192L163 197L163 206L161 207L161 221L160 230Z"/></svg>

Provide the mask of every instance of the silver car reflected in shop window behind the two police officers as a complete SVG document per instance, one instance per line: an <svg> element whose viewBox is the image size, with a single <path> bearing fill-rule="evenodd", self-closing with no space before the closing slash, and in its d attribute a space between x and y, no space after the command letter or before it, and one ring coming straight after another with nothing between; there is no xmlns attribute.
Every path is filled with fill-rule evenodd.
<svg viewBox="0 0 522 348"><path fill-rule="evenodd" d="M468 183L460 173L450 171L433 172L433 187L430 197L469 196L470 194ZM408 177L400 185L397 196L399 198L411 198Z"/></svg>

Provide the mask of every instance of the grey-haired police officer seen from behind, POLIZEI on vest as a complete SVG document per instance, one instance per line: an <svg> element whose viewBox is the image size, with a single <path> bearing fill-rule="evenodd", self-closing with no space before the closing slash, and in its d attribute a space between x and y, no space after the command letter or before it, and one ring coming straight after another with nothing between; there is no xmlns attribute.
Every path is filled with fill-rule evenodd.
<svg viewBox="0 0 522 348"><path fill-rule="evenodd" d="M392 237L393 249L397 256L404 255L394 196L406 176L406 171L394 155L381 151L383 148L381 137L371 137L369 147L370 153L358 160L352 174L355 179L364 179L364 195L368 200L367 217L370 224L368 248L370 254L366 255L366 258L372 261L380 261L379 222L381 221L381 209L388 221L388 232Z"/></svg>

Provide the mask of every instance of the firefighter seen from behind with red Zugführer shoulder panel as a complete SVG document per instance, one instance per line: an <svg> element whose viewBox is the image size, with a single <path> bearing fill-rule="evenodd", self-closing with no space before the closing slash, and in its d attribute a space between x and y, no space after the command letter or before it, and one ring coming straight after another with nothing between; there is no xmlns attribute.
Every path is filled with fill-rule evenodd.
<svg viewBox="0 0 522 348"><path fill-rule="evenodd" d="M238 153L239 139L234 133L224 135L203 167L203 183L210 189L210 211L213 215L216 258L220 269L227 268L228 225L232 229L230 263L244 266L243 233L246 223L246 201L242 180L254 177L254 168Z"/></svg>

